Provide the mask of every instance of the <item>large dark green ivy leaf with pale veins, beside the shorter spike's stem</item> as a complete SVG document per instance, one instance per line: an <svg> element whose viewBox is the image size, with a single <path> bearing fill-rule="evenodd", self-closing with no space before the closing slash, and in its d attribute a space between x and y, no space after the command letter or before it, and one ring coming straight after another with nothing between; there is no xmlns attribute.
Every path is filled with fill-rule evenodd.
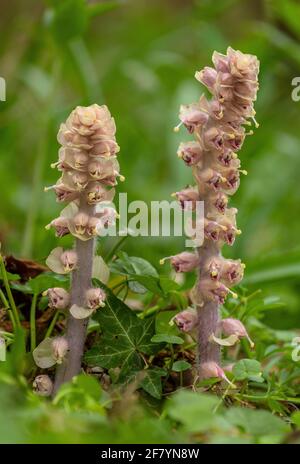
<svg viewBox="0 0 300 464"><path fill-rule="evenodd" d="M151 342L154 319L138 318L109 288L96 282L107 294L105 308L94 316L103 334L100 342L86 353L85 361L108 369L119 367L124 375L133 368L142 369L142 353L153 354L158 350Z"/></svg>

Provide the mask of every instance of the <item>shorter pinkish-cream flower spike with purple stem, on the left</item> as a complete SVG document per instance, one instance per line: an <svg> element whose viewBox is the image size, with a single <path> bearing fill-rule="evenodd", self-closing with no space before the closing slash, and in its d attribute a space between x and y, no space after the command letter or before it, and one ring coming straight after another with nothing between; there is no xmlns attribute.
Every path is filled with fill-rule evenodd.
<svg viewBox="0 0 300 464"><path fill-rule="evenodd" d="M80 372L88 318L105 306L105 293L92 288L92 269L94 238L103 235L103 230L117 217L115 210L107 206L115 194L111 187L118 178L124 180L116 159L119 146L115 132L115 121L108 108L91 105L75 108L58 133L62 147L58 162L51 167L58 169L60 178L45 190L54 190L57 201L69 204L46 228L53 227L58 237L72 234L75 248L55 248L47 259L54 272L72 273L70 293L61 288L45 292L51 307L69 309L66 334L54 341L51 347L55 353L50 361L47 358L47 362L54 359L60 364L54 393ZM38 349L36 353L39 354Z"/></svg>

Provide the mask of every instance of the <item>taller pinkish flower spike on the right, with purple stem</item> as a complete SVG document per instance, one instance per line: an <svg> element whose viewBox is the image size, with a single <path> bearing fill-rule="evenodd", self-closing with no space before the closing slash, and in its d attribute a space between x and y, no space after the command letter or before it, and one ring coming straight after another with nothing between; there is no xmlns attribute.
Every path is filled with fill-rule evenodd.
<svg viewBox="0 0 300 464"><path fill-rule="evenodd" d="M223 325L219 321L219 306L228 294L237 296L230 287L240 282L245 267L240 260L223 258L221 249L224 244L233 245L241 233L236 226L237 210L227 207L228 196L238 189L240 174L247 174L240 169L236 153L246 135L253 133L246 132L244 125L251 125L250 119L258 127L253 108L258 90L257 58L229 47L226 55L215 52L212 61L214 68L205 67L195 74L212 94L211 99L202 95L198 103L181 105L181 123L175 128L178 132L183 124L194 135L195 141L181 143L177 154L192 167L196 186L176 192L174 196L184 209L185 203L190 201L192 211L198 199L204 201L204 221L196 223L196 227L204 228L203 244L196 250L198 260L192 261L189 253L186 254L188 260L179 259L185 257L185 253L171 257L171 264L177 265L178 261L178 267L184 267L185 271L192 270L193 266L198 268L192 300L198 313L197 370L200 379L224 378L219 365L220 346L212 334L223 327L226 334L233 334L237 340L248 337L239 321L227 319ZM185 311L174 318L183 329L189 326L185 319Z"/></svg>

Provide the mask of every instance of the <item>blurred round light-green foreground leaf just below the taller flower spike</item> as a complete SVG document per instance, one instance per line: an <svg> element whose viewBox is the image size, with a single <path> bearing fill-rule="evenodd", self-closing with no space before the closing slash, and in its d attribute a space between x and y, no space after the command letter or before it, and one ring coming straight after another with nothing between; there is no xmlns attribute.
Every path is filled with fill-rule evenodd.
<svg viewBox="0 0 300 464"><path fill-rule="evenodd" d="M167 404L167 414L188 432L207 432L215 423L214 408L219 398L208 393L180 390Z"/></svg>

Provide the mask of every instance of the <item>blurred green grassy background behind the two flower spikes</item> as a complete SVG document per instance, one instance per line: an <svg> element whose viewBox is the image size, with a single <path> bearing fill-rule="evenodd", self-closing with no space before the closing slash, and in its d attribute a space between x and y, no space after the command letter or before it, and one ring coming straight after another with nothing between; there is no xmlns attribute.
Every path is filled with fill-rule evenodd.
<svg viewBox="0 0 300 464"><path fill-rule="evenodd" d="M227 256L247 264L246 286L278 295L269 322L300 326L300 4L292 0L11 0L1 2L0 240L6 253L43 262L57 243L44 229L61 206L43 187L57 171L56 134L76 105L107 104L116 119L129 200L165 200L191 182L176 156L180 103L199 98L196 70L228 45L261 62L260 127L241 151L249 175L232 200L243 234ZM103 245L109 247L108 239ZM182 238L129 238L153 264ZM166 268L167 272L167 268ZM267 316L268 317L268 316Z"/></svg>

